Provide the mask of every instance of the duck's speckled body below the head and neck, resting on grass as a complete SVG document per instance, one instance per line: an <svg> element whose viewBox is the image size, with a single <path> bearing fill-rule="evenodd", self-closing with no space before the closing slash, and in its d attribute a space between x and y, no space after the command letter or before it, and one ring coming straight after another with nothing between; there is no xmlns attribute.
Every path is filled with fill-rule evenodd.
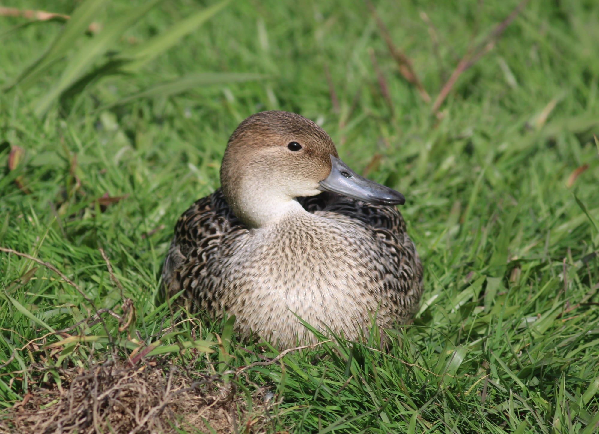
<svg viewBox="0 0 599 434"><path fill-rule="evenodd" d="M412 317L422 266L398 210L329 193L299 202L310 214L250 231L220 189L196 201L165 261L168 293L284 346L311 340L292 312L352 339L373 315L385 327Z"/></svg>

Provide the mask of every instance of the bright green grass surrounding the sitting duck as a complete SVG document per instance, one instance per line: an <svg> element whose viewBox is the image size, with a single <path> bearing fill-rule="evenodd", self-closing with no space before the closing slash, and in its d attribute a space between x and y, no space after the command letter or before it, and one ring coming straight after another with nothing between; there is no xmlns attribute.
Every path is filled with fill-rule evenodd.
<svg viewBox="0 0 599 434"><path fill-rule="evenodd" d="M22 3L65 14L81 4ZM162 2L147 13L135 3L98 4L88 21L107 33L86 35L89 22L73 20L74 36L54 50L64 23L0 17L0 246L53 264L80 290L0 252L2 407L60 381L60 366L110 357L111 342L123 356L140 339L161 339L167 355L156 357L198 372L208 360L221 371L261 360L235 336L231 357L214 345L208 357L179 353L177 342L200 350L196 339L216 342L210 332L223 325L174 325L188 317L161 304L159 276L178 216L219 185L228 135L249 114L281 109L316 120L344 161L406 195L401 211L425 293L387 351L369 348L373 333L371 345L328 342L234 379L249 403L256 385L280 400L267 429L594 432L599 3L532 0L459 77L440 116L401 77L362 2L237 1L201 26L194 14L204 2ZM516 6L415 3L375 6L433 99L468 48ZM189 34L174 34L193 17ZM11 87L32 65L26 86ZM12 170L11 149L20 156ZM106 204L105 194L122 198ZM103 323L69 331L89 342L54 353L44 346L93 306L123 315L126 298L135 316L125 330L105 313ZM46 364L44 378L31 375L32 363Z"/></svg>

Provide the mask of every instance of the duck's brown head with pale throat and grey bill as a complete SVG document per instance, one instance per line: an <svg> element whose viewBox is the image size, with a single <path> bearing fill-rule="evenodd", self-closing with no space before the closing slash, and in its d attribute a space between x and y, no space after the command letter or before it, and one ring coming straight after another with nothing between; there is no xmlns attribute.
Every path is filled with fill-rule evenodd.
<svg viewBox="0 0 599 434"><path fill-rule="evenodd" d="M262 111L240 123L229 138L220 183L237 218L250 227L298 209L297 197L323 191L377 205L405 201L401 193L356 174L320 126L287 111Z"/></svg>

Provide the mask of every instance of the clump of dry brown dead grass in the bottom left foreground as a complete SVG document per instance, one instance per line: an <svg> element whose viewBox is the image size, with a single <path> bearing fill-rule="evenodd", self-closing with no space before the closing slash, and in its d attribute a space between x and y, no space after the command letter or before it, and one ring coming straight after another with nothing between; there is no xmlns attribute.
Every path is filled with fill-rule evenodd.
<svg viewBox="0 0 599 434"><path fill-rule="evenodd" d="M107 361L60 371L61 385L38 387L0 416L0 431L19 433L170 433L176 428L256 432L246 403L217 376L192 379L174 366ZM264 409L263 409L264 410ZM244 415L247 422L237 421ZM251 422L250 422L251 420Z"/></svg>

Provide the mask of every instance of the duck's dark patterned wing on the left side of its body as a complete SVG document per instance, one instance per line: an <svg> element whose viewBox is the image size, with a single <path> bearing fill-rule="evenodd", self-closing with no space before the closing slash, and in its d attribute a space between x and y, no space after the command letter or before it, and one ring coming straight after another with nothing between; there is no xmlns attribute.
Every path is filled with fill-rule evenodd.
<svg viewBox="0 0 599 434"><path fill-rule="evenodd" d="M162 281L167 294L183 289L181 276L188 277L185 270L199 270L203 252L211 251L222 239L235 230L244 230L233 215L219 188L213 194L201 198L184 212L175 227L173 241L162 267Z"/></svg>

